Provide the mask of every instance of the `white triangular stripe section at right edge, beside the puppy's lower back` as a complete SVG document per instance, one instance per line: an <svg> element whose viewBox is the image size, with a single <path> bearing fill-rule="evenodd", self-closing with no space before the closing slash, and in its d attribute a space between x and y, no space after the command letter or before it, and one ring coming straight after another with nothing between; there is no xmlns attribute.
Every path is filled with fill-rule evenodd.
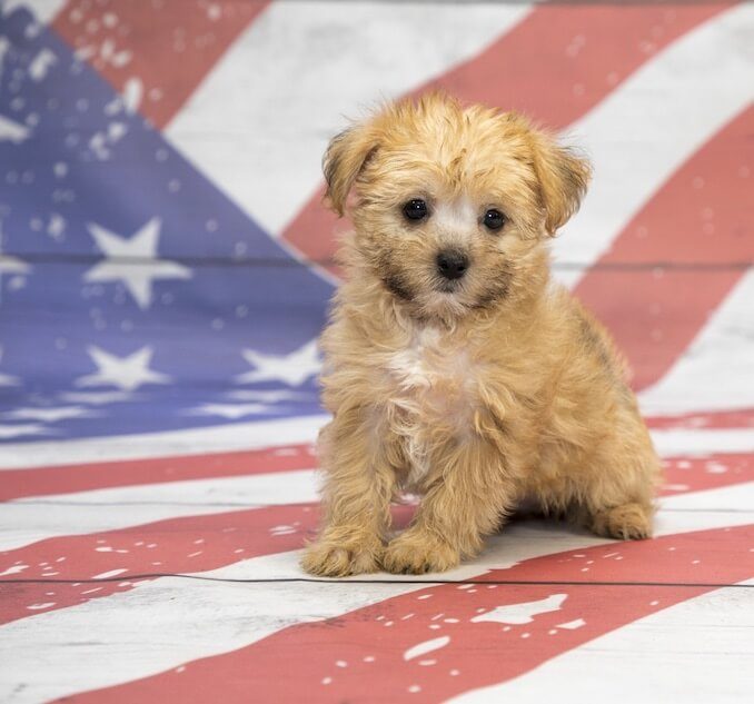
<svg viewBox="0 0 754 704"><path fill-rule="evenodd" d="M639 396L642 410L754 408L753 301L754 271L748 271L671 370Z"/></svg>

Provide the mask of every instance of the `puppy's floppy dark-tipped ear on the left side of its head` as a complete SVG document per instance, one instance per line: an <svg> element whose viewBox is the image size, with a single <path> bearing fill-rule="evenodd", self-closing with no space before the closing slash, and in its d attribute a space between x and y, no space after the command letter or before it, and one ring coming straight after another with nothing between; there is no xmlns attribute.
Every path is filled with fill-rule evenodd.
<svg viewBox="0 0 754 704"><path fill-rule="evenodd" d="M356 178L377 151L377 136L369 125L354 125L336 135L325 151L323 171L327 181L325 197L333 210L343 215Z"/></svg>

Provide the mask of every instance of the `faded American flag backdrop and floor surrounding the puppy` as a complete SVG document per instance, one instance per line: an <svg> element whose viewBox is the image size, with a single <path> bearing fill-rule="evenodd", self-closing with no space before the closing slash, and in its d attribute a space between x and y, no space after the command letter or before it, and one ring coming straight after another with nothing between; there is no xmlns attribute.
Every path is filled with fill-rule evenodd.
<svg viewBox="0 0 754 704"><path fill-rule="evenodd" d="M320 156L436 86L594 161L555 276L632 363L657 536L308 579ZM0 3L0 701L751 701L753 97L746 2Z"/></svg>

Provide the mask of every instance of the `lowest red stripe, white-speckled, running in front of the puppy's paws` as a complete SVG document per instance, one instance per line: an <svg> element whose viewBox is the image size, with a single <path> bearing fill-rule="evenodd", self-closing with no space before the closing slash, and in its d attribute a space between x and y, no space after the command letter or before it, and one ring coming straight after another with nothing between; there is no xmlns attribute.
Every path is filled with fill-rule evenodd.
<svg viewBox="0 0 754 704"><path fill-rule="evenodd" d="M754 526L703 531L529 559L483 581L565 585L442 585L343 616L299 624L247 647L143 680L68 697L76 702L438 702L505 682L652 613L754 575ZM689 586L626 586L625 582ZM588 582L607 581L605 587ZM473 618L498 606L565 595L530 623ZM446 621L452 619L452 621ZM454 621L455 619L455 621ZM563 624L583 619L581 627ZM528 634L528 635L527 635ZM439 650L405 653L448 636Z"/></svg>

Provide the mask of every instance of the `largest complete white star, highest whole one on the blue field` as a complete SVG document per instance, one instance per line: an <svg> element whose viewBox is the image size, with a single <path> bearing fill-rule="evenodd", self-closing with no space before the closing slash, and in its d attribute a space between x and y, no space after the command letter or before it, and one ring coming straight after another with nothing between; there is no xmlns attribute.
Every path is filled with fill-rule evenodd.
<svg viewBox="0 0 754 704"><path fill-rule="evenodd" d="M89 269L83 280L122 281L139 308L149 308L153 280L191 278L188 267L156 258L160 225L159 218L152 218L130 239L125 239L99 225L89 224L89 231L107 258Z"/></svg>

